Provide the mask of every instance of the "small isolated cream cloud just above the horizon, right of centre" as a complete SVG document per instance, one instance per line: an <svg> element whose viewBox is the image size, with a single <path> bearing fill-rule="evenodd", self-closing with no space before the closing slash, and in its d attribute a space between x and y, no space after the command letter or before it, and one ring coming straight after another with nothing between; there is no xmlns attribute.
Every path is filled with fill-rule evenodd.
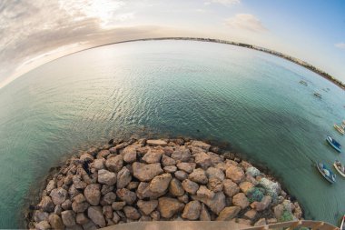
<svg viewBox="0 0 345 230"><path fill-rule="evenodd" d="M251 32L265 32L268 29L262 25L261 21L254 15L237 14L225 20L225 25L234 29L248 30Z"/></svg>

